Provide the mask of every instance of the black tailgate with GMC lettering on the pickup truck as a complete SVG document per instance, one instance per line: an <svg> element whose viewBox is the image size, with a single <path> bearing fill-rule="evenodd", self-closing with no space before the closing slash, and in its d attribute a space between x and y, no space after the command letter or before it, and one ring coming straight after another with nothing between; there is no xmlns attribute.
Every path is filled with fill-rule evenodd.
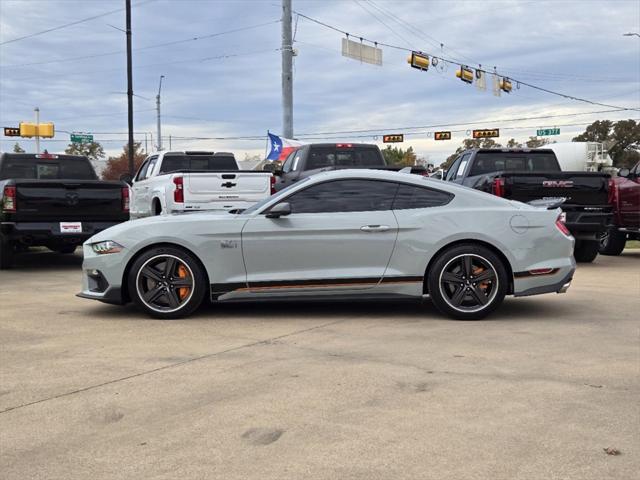
<svg viewBox="0 0 640 480"><path fill-rule="evenodd" d="M596 172L503 173L506 196L520 202L567 197L567 204L606 205L609 175Z"/></svg>

